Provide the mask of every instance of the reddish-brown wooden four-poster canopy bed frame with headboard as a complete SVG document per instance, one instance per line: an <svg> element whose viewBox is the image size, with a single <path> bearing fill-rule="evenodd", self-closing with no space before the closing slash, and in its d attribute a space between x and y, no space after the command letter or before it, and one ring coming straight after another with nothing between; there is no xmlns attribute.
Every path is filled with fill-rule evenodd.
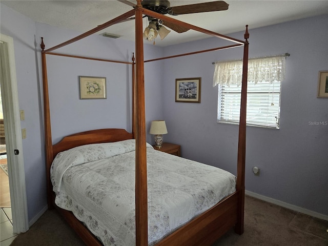
<svg viewBox="0 0 328 246"><path fill-rule="evenodd" d="M162 57L152 60L144 60L144 48L142 38L142 15L150 15L155 18L165 20L167 22L179 25L181 27L193 29L202 33L206 33L221 39L226 39L233 42L233 45L218 47L214 49L202 50L187 54L179 54L170 57ZM132 62L116 61L97 59L91 57L81 57L66 54L53 53L51 51L60 47L71 44L79 39L87 37L96 33L104 28L107 28L116 23L122 22L131 16L135 15L135 52L132 57ZM75 218L75 216L66 210L58 208L54 203L54 192L52 191L52 183L50 180L50 167L51 163L60 151L64 151L76 146L100 143L100 142L114 142L126 139L136 139L136 245L148 245L148 211L147 211L147 156L146 156L146 119L145 119L145 88L144 88L144 63L167 59L177 56L184 56L220 49L228 49L233 47L243 46L243 76L242 76L242 92L241 92L241 108L240 108L240 124L239 124L239 138L238 138L238 160L237 160L237 184L236 192L231 196L224 198L217 203L210 210L202 213L187 223L185 226L179 228L166 238L162 239L156 245L211 245L220 236L235 227L238 234L243 233L243 220L244 220L244 172L245 172L245 140L246 140L246 99L247 99L247 67L248 67L248 26L244 34L245 40L238 40L228 36L224 36L209 30L205 30L179 20L170 18L165 15L155 13L153 11L142 8L141 0L137 0L137 5L131 11L122 14L109 22L100 25L86 33L83 33L75 38L61 43L55 47L45 50L45 44L42 38L42 69L43 69L43 89L44 89L44 120L45 120L45 142L46 142L46 171L47 171L47 191L48 191L48 207L57 208L63 214L64 218L68 221L70 226L76 231L81 239L87 245L102 245L98 239ZM55 145L52 145L51 136L51 123L50 123L50 107L49 107L49 94L48 94L48 78L47 78L47 65L46 54L76 57L83 59L109 61L114 63L131 64L132 65L132 133L128 133L124 129L98 129L82 133L73 134L65 137L63 140Z"/></svg>

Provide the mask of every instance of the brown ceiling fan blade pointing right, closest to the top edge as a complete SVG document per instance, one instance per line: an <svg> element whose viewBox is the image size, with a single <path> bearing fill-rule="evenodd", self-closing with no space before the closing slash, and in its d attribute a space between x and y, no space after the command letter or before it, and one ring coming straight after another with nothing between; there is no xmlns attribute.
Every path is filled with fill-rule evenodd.
<svg viewBox="0 0 328 246"><path fill-rule="evenodd" d="M227 4L224 1L181 5L181 6L171 7L169 10L169 14L178 15L178 14L212 12L212 11L227 10L228 7L229 7L229 4Z"/></svg>

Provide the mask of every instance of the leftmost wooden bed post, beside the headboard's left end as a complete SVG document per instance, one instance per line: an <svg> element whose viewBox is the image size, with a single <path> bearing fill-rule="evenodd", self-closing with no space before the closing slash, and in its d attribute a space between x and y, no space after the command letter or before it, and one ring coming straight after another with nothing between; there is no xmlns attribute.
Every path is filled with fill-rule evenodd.
<svg viewBox="0 0 328 246"><path fill-rule="evenodd" d="M46 144L46 175L47 175L47 198L48 208L53 208L53 192L52 184L50 181L50 166L52 163L52 138L51 138L51 122L50 122L50 106L49 106L49 94L48 94L48 76L47 76L47 63L46 52L43 37L41 38L41 58L42 58L42 79L43 79L43 104L44 104L44 120L45 120L45 144ZM48 168L49 167L49 168Z"/></svg>

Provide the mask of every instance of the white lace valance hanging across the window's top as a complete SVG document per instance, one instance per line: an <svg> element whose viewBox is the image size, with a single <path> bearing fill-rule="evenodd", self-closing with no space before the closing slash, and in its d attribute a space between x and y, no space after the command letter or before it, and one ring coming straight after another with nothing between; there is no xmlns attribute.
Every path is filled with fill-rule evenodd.
<svg viewBox="0 0 328 246"><path fill-rule="evenodd" d="M282 81L285 78L286 55L252 58L248 60L248 82L260 83ZM217 61L213 76L213 87L241 84L242 60Z"/></svg>

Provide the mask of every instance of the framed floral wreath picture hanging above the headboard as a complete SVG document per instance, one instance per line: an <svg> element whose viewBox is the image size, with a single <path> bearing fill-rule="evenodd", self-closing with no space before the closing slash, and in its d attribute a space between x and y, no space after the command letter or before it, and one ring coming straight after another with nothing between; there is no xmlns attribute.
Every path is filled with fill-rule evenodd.
<svg viewBox="0 0 328 246"><path fill-rule="evenodd" d="M106 78L79 76L80 99L106 99Z"/></svg>

